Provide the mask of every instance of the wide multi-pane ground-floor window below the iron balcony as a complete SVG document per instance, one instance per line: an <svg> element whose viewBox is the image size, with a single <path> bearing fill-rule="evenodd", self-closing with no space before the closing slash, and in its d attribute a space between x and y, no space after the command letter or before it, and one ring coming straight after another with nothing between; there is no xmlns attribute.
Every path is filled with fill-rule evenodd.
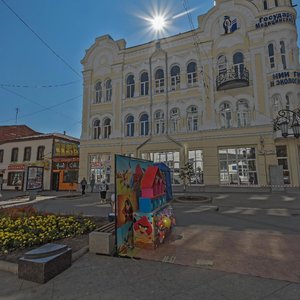
<svg viewBox="0 0 300 300"><path fill-rule="evenodd" d="M255 148L219 149L221 184L258 184Z"/></svg>

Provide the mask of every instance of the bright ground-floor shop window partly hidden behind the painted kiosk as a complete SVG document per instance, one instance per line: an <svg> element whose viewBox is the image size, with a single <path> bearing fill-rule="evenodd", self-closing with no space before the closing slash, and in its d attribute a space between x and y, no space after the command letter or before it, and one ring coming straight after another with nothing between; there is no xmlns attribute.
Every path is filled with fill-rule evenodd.
<svg viewBox="0 0 300 300"><path fill-rule="evenodd" d="M152 160L154 162L165 163L171 171L171 178L173 184L180 184L180 155L178 151L175 152L148 152L142 153L143 159Z"/></svg>

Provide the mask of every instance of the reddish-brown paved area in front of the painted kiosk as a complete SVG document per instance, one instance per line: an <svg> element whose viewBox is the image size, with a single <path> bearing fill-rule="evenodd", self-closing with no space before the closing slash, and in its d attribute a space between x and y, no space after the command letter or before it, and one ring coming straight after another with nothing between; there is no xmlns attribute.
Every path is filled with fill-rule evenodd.
<svg viewBox="0 0 300 300"><path fill-rule="evenodd" d="M226 227L176 227L167 243L138 257L300 282L300 236Z"/></svg>

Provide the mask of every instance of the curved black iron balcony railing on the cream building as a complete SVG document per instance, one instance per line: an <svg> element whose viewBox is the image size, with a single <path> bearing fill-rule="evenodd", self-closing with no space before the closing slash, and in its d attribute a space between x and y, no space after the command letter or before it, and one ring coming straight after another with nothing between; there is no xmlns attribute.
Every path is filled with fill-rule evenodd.
<svg viewBox="0 0 300 300"><path fill-rule="evenodd" d="M216 78L217 91L249 86L249 71L245 67L233 66Z"/></svg>

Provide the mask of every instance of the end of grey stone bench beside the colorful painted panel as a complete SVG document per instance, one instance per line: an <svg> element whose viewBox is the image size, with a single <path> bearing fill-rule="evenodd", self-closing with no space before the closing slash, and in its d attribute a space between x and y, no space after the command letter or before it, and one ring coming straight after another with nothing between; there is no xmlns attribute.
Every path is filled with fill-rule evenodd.
<svg viewBox="0 0 300 300"><path fill-rule="evenodd" d="M115 223L108 223L89 234L89 251L112 255L115 250Z"/></svg>

